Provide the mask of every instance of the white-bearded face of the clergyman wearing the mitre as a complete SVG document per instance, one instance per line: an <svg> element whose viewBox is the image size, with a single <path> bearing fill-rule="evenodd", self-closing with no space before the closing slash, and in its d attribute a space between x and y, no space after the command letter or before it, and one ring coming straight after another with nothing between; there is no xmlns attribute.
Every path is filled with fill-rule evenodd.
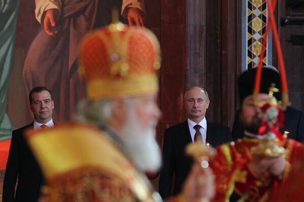
<svg viewBox="0 0 304 202"><path fill-rule="evenodd" d="M156 171L161 165L161 152L155 140L155 126L160 118L156 95L130 98L121 138L138 167Z"/></svg>

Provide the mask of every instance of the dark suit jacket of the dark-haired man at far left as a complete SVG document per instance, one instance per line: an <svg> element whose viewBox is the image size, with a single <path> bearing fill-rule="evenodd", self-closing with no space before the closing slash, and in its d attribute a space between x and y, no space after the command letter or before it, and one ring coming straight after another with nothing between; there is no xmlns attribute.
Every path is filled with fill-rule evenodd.
<svg viewBox="0 0 304 202"><path fill-rule="evenodd" d="M24 131L30 128L33 128L33 123L12 133L3 183L3 202L38 201L43 180L38 163L24 137ZM15 194L17 176L18 185Z"/></svg>

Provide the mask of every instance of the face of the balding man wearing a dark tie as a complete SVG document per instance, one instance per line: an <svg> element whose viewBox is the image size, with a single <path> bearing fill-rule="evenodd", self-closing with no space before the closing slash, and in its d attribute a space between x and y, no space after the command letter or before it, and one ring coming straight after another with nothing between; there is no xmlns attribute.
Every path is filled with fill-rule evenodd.
<svg viewBox="0 0 304 202"><path fill-rule="evenodd" d="M201 89L190 89L184 101L188 118L200 122L205 117L210 101Z"/></svg>

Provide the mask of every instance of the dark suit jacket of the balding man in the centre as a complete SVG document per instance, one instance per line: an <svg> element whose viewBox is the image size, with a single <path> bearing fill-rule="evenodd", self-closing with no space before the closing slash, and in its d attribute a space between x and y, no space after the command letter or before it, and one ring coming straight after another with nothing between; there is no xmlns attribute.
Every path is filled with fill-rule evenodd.
<svg viewBox="0 0 304 202"><path fill-rule="evenodd" d="M230 129L214 123L207 123L206 142L213 147L232 141ZM192 143L187 120L165 130L162 161L159 178L159 193L162 198L171 196L172 179L175 173L174 195L181 192L182 185L192 166L192 159L185 154L185 147Z"/></svg>

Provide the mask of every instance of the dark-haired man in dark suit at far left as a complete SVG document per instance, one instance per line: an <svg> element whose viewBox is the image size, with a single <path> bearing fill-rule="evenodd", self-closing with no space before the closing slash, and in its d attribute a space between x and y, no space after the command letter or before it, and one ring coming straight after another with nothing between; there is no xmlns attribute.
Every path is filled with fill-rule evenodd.
<svg viewBox="0 0 304 202"><path fill-rule="evenodd" d="M38 163L25 138L24 131L53 127L54 102L51 91L46 87L35 87L29 93L30 109L34 120L31 124L12 133L9 158L3 183L3 202L38 201L43 177ZM15 193L16 180L18 184Z"/></svg>

